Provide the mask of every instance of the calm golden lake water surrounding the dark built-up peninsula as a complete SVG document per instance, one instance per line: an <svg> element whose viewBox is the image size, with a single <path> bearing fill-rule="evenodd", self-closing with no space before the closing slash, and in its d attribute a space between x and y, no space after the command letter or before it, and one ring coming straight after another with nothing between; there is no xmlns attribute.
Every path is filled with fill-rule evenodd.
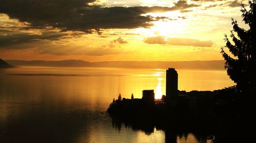
<svg viewBox="0 0 256 143"><path fill-rule="evenodd" d="M179 90L215 90L234 83L226 71L177 70ZM165 142L113 123L104 112L113 98L141 98L144 89L165 94L164 69L42 68L0 70L0 142ZM172 133L168 133L169 134ZM210 142L185 133L177 142Z"/></svg>

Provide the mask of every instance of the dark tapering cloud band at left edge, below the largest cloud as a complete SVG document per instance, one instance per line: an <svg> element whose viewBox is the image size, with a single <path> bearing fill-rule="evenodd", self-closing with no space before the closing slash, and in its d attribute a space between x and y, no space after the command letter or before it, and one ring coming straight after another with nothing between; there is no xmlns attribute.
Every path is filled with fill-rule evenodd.
<svg viewBox="0 0 256 143"><path fill-rule="evenodd" d="M13 32L7 30L0 30L0 48L8 48L10 45L17 45L35 40L58 40L60 37L66 36L66 34L59 32L42 32L40 35L24 33L24 32ZM11 48L19 48L18 46L11 46ZM26 47L25 47L26 48ZM28 48L28 47L27 47Z"/></svg>

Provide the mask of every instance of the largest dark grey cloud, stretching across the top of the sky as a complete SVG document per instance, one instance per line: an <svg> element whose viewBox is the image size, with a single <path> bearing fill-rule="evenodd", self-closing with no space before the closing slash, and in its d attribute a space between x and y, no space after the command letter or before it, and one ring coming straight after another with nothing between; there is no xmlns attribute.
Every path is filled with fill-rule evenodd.
<svg viewBox="0 0 256 143"><path fill-rule="evenodd" d="M155 19L141 14L184 10L199 5L178 1L169 7L101 7L90 6L95 0L0 0L0 13L31 23L30 28L52 26L62 31L97 32L109 28L152 26Z"/></svg>

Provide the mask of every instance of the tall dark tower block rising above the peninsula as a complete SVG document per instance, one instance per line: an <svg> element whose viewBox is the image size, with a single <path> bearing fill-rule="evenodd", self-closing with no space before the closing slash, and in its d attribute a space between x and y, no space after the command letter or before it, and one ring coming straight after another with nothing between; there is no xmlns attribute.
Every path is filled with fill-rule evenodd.
<svg viewBox="0 0 256 143"><path fill-rule="evenodd" d="M178 95L178 73L174 68L166 70L166 98Z"/></svg>

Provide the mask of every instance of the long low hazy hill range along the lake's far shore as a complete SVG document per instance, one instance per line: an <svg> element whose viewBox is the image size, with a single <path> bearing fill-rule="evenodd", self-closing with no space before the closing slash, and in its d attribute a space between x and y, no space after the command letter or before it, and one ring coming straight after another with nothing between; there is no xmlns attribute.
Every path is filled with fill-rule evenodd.
<svg viewBox="0 0 256 143"><path fill-rule="evenodd" d="M6 60L15 66L45 66L45 67L110 67L110 68L151 68L167 69L205 69L205 70L224 70L225 61L108 61L108 62L86 62L81 60L65 61L18 61Z"/></svg>

